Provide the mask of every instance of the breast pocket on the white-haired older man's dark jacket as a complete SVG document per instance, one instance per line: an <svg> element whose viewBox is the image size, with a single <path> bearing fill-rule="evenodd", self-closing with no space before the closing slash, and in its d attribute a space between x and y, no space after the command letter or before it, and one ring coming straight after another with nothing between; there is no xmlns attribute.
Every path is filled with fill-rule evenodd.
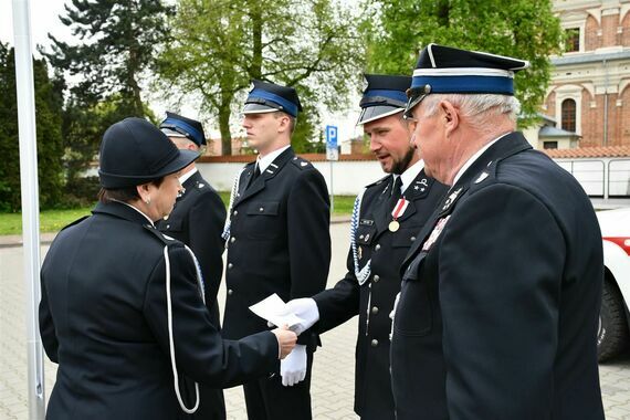
<svg viewBox="0 0 630 420"><path fill-rule="evenodd" d="M423 260L423 254L418 255L402 276L400 300L393 319L396 334L402 336L420 337L431 332L431 302L427 282L419 275Z"/></svg>

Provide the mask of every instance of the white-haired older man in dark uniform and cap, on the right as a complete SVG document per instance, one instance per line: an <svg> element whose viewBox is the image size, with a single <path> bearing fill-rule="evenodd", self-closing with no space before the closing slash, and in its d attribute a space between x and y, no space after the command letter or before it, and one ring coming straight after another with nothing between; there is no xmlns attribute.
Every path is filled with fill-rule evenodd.
<svg viewBox="0 0 630 420"><path fill-rule="evenodd" d="M406 116L449 192L405 259L391 380L399 420L603 419L603 263L576 179L515 132L522 60L437 44Z"/></svg>

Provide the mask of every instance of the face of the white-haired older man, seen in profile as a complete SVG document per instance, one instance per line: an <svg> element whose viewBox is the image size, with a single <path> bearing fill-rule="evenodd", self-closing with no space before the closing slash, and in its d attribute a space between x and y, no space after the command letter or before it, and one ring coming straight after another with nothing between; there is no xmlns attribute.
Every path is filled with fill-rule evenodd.
<svg viewBox="0 0 630 420"><path fill-rule="evenodd" d="M420 103L411 114L412 118L408 119L411 144L419 149L424 160L424 171L440 182L445 182L449 174L449 150L441 113L438 109L432 116L424 116L424 104Z"/></svg>

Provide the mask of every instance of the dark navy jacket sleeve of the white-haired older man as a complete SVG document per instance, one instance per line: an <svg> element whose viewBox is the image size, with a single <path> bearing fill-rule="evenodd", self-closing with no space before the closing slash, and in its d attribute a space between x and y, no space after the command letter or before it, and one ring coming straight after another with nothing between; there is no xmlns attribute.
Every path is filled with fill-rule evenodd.
<svg viewBox="0 0 630 420"><path fill-rule="evenodd" d="M473 193L440 248L440 305L451 419L543 419L553 411L565 241L517 187Z"/></svg>

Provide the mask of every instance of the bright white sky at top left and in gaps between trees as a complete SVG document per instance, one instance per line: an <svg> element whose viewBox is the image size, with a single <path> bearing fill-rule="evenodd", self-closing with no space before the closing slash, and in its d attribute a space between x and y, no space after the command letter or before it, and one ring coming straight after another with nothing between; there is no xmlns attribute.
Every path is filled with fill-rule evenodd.
<svg viewBox="0 0 630 420"><path fill-rule="evenodd" d="M27 0L20 0L27 1ZM48 33L52 33L56 39L73 43L73 38L67 29L59 20L60 14L65 14L64 3L70 0L30 0L31 9L31 40L33 53L36 54L36 45L42 45L48 49L51 44ZM0 42L13 45L13 15L12 15L13 0L0 0ZM358 97L354 103L358 104ZM156 115L164 115L166 112L165 104L150 103L151 109ZM181 109L182 114L190 115L195 118L195 106L185 106ZM356 120L359 115L358 106L351 106L347 113L330 114L324 112L322 115L322 129L326 125L334 125L338 127L339 141L347 140L360 134L360 129L356 127ZM218 125L212 122L204 122L204 128L208 135L212 138L219 137ZM240 135L241 133L232 133ZM349 144L342 145L344 149L349 148ZM348 150L349 151L349 150Z"/></svg>

